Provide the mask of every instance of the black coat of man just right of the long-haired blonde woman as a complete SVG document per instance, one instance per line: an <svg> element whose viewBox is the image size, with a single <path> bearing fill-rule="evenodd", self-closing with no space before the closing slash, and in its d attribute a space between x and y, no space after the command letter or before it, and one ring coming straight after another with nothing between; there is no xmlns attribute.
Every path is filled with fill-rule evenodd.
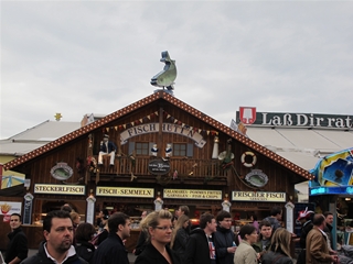
<svg viewBox="0 0 353 264"><path fill-rule="evenodd" d="M211 264L208 240L203 229L191 231L184 260L185 264Z"/></svg>

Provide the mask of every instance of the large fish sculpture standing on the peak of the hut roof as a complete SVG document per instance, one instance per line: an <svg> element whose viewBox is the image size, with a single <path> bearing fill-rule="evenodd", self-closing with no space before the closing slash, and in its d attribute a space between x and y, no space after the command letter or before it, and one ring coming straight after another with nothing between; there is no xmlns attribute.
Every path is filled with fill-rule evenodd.
<svg viewBox="0 0 353 264"><path fill-rule="evenodd" d="M151 79L151 85L157 87L167 88L169 91L174 89L174 80L176 78L175 61L171 59L169 53L162 52L162 58L160 59L165 64L162 72L154 75Z"/></svg>

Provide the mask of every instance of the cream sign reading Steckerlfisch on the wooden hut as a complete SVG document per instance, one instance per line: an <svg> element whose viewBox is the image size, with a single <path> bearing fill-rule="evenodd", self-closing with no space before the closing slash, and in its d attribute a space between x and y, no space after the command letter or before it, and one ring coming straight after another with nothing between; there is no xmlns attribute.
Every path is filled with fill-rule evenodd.
<svg viewBox="0 0 353 264"><path fill-rule="evenodd" d="M46 185L35 184L34 194L50 195L85 195L86 186L82 185Z"/></svg>

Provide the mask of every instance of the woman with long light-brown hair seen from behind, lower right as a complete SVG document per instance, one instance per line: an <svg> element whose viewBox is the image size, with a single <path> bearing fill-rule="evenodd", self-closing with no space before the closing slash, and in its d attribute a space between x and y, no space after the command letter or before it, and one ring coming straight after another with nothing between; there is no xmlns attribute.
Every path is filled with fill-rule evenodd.
<svg viewBox="0 0 353 264"><path fill-rule="evenodd" d="M271 239L270 250L264 254L263 264L292 264L290 257L291 233L284 229L276 229Z"/></svg>

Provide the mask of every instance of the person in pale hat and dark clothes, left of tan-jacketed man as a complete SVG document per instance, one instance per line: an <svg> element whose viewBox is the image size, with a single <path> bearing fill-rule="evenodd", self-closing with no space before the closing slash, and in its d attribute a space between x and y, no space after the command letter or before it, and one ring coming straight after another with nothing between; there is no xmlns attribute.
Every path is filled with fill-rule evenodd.
<svg viewBox="0 0 353 264"><path fill-rule="evenodd" d="M299 244L302 249L301 252L298 255L297 263L306 263L306 246L307 246L307 235L312 229L313 224L311 222L311 218L313 216L313 211L308 210L308 207L306 210L302 210L299 212L297 221L301 224L301 231L300 231L300 240Z"/></svg>

